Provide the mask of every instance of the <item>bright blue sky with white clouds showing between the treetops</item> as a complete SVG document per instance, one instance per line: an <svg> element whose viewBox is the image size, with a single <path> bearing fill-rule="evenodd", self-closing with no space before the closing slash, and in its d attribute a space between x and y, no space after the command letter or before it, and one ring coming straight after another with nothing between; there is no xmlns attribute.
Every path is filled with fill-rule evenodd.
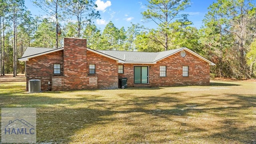
<svg viewBox="0 0 256 144"><path fill-rule="evenodd" d="M202 20L204 15L208 11L208 7L216 0L191 0L191 6L184 12L189 14L188 19L193 22L193 26L200 28L202 26ZM148 4L147 0L95 0L100 12L101 19L94 20L94 23L100 30L104 30L104 27L108 22L112 21L117 28L124 26L127 30L128 26L131 26L131 22L134 24L142 24L149 28L154 28L154 23L143 23L142 14ZM44 16L40 8L36 8L30 0L25 0L25 6L31 13L35 15Z"/></svg>

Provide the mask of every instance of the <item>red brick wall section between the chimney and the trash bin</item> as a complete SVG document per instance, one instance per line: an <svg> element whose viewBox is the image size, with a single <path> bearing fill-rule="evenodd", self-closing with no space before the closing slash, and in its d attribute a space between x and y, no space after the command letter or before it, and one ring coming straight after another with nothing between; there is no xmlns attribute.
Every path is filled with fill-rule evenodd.
<svg viewBox="0 0 256 144"><path fill-rule="evenodd" d="M90 64L95 64L96 72L95 75L88 75L88 78L97 78L97 86L88 84L88 89L118 88L118 63L116 60L87 51L87 64L88 69Z"/></svg>

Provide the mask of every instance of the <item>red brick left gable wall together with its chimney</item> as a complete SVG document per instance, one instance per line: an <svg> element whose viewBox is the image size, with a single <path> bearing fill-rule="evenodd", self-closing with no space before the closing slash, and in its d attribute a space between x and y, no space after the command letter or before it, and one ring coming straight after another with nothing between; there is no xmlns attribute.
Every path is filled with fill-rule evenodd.
<svg viewBox="0 0 256 144"><path fill-rule="evenodd" d="M61 75L54 76L54 64L61 64ZM96 74L88 75L89 64L95 64ZM27 62L28 80L41 80L41 90L66 91L118 88L118 63L86 50L86 40L64 38L64 51L58 51Z"/></svg>

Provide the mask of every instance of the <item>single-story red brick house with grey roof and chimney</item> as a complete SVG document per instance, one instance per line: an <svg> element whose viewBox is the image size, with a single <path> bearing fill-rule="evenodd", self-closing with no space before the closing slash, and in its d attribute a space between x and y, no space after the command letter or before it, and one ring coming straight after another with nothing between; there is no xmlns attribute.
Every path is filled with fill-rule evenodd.
<svg viewBox="0 0 256 144"><path fill-rule="evenodd" d="M210 65L188 48L164 52L92 50L86 39L64 38L63 48L28 47L22 58L28 81L41 80L41 90L68 91L118 88L118 78L132 86L209 85ZM49 84L50 83L50 84Z"/></svg>

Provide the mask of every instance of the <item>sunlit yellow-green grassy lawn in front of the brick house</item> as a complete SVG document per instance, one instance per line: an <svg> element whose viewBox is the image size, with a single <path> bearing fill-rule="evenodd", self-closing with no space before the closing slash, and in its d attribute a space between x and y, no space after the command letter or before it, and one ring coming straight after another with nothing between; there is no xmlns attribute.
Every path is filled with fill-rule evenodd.
<svg viewBox="0 0 256 144"><path fill-rule="evenodd" d="M37 108L38 143L256 143L255 80L28 94L20 79L0 77L0 107Z"/></svg>

